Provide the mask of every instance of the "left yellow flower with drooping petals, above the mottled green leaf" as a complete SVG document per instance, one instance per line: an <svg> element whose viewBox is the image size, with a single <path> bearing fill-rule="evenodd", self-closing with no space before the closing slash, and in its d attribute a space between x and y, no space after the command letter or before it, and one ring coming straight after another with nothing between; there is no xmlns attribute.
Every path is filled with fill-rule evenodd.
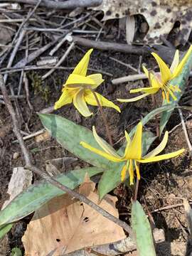
<svg viewBox="0 0 192 256"><path fill-rule="evenodd" d="M70 104L73 101L73 105L84 117L90 117L92 114L87 107L87 103L93 106L97 106L97 100L92 93L104 80L101 74L87 75L87 67L90 60L90 54L93 49L87 51L80 63L70 74L68 80L63 85L62 95L60 99L55 102L54 109L57 110L64 105ZM118 112L121 112L117 105L107 100L105 97L95 92L100 105L104 107L113 107ZM87 102L87 103L86 103Z"/></svg>

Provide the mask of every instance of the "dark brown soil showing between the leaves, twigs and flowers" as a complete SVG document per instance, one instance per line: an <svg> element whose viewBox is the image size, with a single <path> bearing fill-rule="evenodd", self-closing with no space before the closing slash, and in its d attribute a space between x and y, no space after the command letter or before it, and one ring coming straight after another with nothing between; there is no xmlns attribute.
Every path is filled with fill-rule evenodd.
<svg viewBox="0 0 192 256"><path fill-rule="evenodd" d="M117 41L125 43L124 34L122 33L117 39L118 33L118 21L109 21L107 23L107 29L112 31L109 33L110 41ZM104 38L107 40L107 38ZM101 37L102 40L102 37ZM109 40L109 39L108 39ZM60 56L65 53L67 48L65 43L56 55ZM86 48L82 46L76 46L68 55L68 58L63 63L66 67L74 67L82 55L86 52ZM44 53L43 55L46 55ZM124 75L134 74L134 71L127 68L125 65L115 62L111 59L115 58L121 60L123 63L132 65L134 68L139 68L139 56L132 54L125 54L113 51L101 51L94 50L90 58L90 68L95 70L102 70L108 75L103 75L105 82L98 88L98 92L107 97L107 99L116 101L119 97L129 97L129 90L134 87L139 87L146 83L146 80L122 83L120 85L112 85L111 80L113 78L119 78ZM21 55L16 56L18 61ZM151 56L144 56L142 63L146 63L149 68L154 68L154 60ZM33 106L33 111L30 110L26 99L17 100L16 104L19 110L20 118L19 123L21 125L21 131L27 132L28 134L42 129L43 126L38 119L36 112L39 112L46 107L50 107L54 104L60 95L63 82L70 74L70 70L55 70L52 75L46 80L41 81L41 76L46 70L27 71L26 75L29 81L30 90L30 101ZM89 73L93 73L89 71ZM11 85L15 92L18 90L19 73L11 73L9 75L8 84ZM190 84L191 80L189 80ZM42 90L43 88L43 90ZM21 94L25 94L23 88ZM112 132L113 142L119 141L123 137L124 130L129 131L132 129L142 117L151 110L152 102L151 98L148 97L145 100L134 103L119 103L115 102L121 108L122 112L119 114L117 111L110 108L105 108L105 114L109 122L110 131ZM185 105L185 100L181 100L181 105ZM94 112L90 118L83 118L75 110L73 105L68 105L55 111L55 114L60 114L73 122L84 125L89 129L92 125L97 127L97 131L107 140L105 127L102 122L102 117L97 107L90 107ZM183 111L185 117L188 116L188 111ZM171 121L167 125L167 129L170 131L177 124L181 122L178 112L174 112L171 117ZM192 141L192 122L189 119L186 122L188 127L188 134ZM155 132L156 125L150 122L146 125L146 129ZM6 110L4 105L0 105L0 206L3 205L4 201L8 198L6 194L9 180L13 168L16 166L23 166L24 162L21 156L21 150L18 143L14 142L16 138L11 128L11 117L9 112ZM123 140L119 142L116 147L118 148L122 144ZM158 143L158 142L156 142ZM26 140L26 145L31 151L33 157L33 163L37 166L45 166L45 161L49 159L55 159L63 156L71 156L68 151L65 151L55 139L46 139L43 142L36 142L35 138ZM174 132L169 134L169 144L166 147L166 152L174 151L185 147L188 149L186 144L186 138L183 133L183 129L178 126ZM18 154L17 158L15 157ZM16 158L16 159L15 159ZM85 166L82 161L76 161L68 166L62 166L61 171L69 171L74 169L76 166ZM191 201L191 188L192 188L192 176L191 176L191 154L188 150L181 157L177 159L171 159L169 161L163 161L156 164L146 164L141 167L142 181L139 186L138 199L144 206L145 210L151 213L152 220L156 228L163 228L166 235L166 242L176 243L178 249L177 254L182 255L183 248L186 247L188 241L188 228L186 223L186 216L183 207L176 207L178 203L182 203L182 198L187 198ZM37 176L34 176L33 182L38 180ZM129 223L130 218L130 199L132 197L132 191L125 185L120 185L118 188L111 192L119 198L117 207L119 209L119 216L122 220ZM168 209L164 209L164 206L173 206ZM14 228L4 238L0 245L0 255L10 255L11 248L20 247L23 250L21 243L21 237L26 230L26 225L30 221L31 216L18 221ZM173 245L173 244L172 244ZM175 247L175 248L176 248ZM180 254L181 253L181 254Z"/></svg>

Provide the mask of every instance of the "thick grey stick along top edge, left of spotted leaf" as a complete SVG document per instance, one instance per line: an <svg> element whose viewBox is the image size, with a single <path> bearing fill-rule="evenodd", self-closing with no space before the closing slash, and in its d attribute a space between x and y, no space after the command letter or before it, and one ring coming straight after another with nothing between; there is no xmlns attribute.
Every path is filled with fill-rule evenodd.
<svg viewBox="0 0 192 256"><path fill-rule="evenodd" d="M6 0L6 2L15 2L23 4L37 4L38 0ZM75 9L77 7L99 6L102 0L69 0L69 1L52 1L43 0L40 6L51 9Z"/></svg>

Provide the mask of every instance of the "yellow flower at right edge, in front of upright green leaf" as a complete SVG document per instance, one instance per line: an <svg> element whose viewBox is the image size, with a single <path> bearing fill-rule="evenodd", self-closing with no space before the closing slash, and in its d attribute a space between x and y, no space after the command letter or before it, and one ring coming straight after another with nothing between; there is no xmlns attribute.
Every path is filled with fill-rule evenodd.
<svg viewBox="0 0 192 256"><path fill-rule="evenodd" d="M155 75L154 73L150 73L143 66L144 73L146 74L146 77L149 78L150 87L143 87L143 88L130 90L130 93L144 92L142 95L139 95L132 99L117 99L117 100L119 102L134 102L148 95L155 94L159 90L161 90L162 92L163 99L164 100L166 99L168 103L169 103L170 95L174 100L177 100L174 92L180 92L181 90L178 88L178 85L171 85L170 81L176 78L181 73L181 71L183 70L183 66L186 64L186 61L188 60L188 56L191 54L191 52L192 52L192 46L190 46L186 55L181 60L181 63L179 63L178 50L176 50L176 53L174 55L174 60L171 64L170 69L168 68L166 63L164 63L164 60L162 60L159 57L159 55L157 55L156 53L151 53L159 65L160 74Z"/></svg>

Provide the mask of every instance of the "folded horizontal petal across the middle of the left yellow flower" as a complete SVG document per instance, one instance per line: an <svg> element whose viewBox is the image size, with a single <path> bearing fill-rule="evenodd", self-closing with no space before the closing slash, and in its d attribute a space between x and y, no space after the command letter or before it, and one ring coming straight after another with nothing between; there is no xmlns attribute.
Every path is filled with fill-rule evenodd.
<svg viewBox="0 0 192 256"><path fill-rule="evenodd" d="M70 85L95 85L95 81L91 78L84 77L82 75L70 74L68 80L65 82L65 87L70 89Z"/></svg>

